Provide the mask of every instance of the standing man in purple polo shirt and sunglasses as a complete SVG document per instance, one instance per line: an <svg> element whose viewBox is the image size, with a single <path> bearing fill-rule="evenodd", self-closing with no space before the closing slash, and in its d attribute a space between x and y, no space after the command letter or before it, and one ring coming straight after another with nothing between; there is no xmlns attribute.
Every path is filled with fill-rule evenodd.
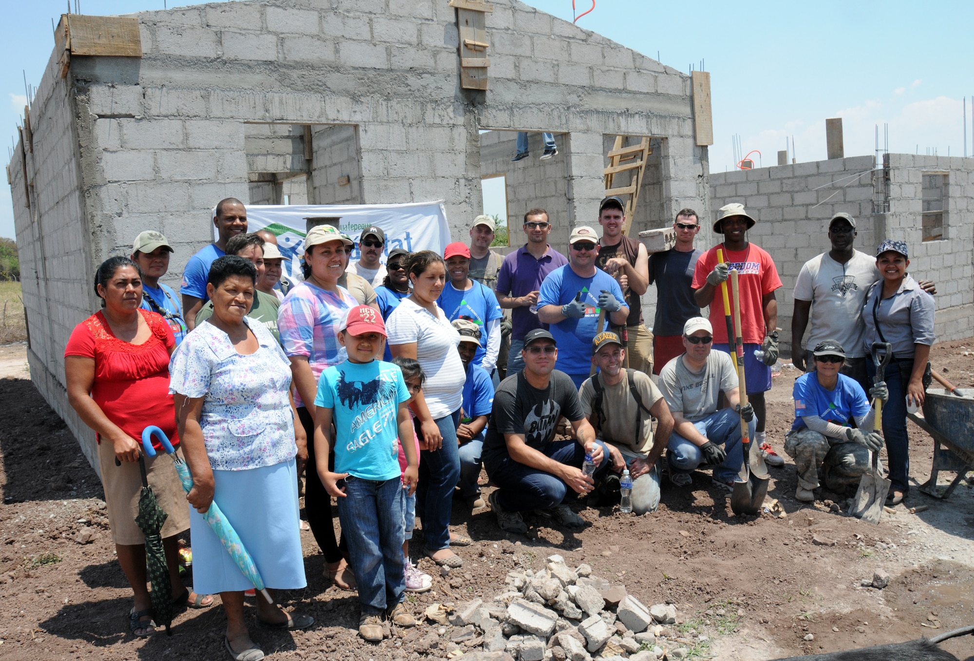
<svg viewBox="0 0 974 661"><path fill-rule="evenodd" d="M568 263L564 254L548 245L550 232L551 223L543 209L532 209L524 214L528 243L504 258L497 276L497 300L501 307L511 311L508 376L524 369L524 359L521 358L524 336L535 329L547 329L547 324L538 320L538 294L544 278Z"/></svg>

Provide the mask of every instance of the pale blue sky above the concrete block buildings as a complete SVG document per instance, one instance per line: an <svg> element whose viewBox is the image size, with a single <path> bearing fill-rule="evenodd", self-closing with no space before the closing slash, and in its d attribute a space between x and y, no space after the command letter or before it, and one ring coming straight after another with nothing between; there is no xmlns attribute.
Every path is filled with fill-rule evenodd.
<svg viewBox="0 0 974 661"><path fill-rule="evenodd" d="M446 2L446 0L434 0ZM576 0L578 13L592 0ZM3 2L0 136L10 145L23 112L23 73L37 85L54 47L51 19L67 0ZM196 3L169 2L169 6ZM572 0L528 0L571 20ZM72 0L73 5L73 0ZM81 0L83 14L162 9L163 0ZM845 155L872 154L874 127L889 124L891 151L963 153L968 97L972 154L971 2L697 2L597 0L579 25L681 71L711 72L710 168L733 167L731 136L764 165L795 137L799 162L824 159L825 118L842 117ZM963 73L967 71L968 73ZM765 163L767 161L767 163ZM0 186L0 236L14 236L10 187Z"/></svg>

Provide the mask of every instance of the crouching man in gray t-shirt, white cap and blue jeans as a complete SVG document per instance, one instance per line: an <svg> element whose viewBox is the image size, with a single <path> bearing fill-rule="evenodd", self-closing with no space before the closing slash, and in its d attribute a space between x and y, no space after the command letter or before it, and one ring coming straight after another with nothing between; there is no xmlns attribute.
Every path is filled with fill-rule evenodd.
<svg viewBox="0 0 974 661"><path fill-rule="evenodd" d="M659 389L673 414L666 461L675 486L690 486L693 471L706 464L714 469L714 486L731 491L743 457L740 418L747 420L754 438L754 409L750 404L740 407L731 356L711 351L713 340L710 322L694 317L683 329L684 354L659 371ZM717 408L721 392L729 408Z"/></svg>

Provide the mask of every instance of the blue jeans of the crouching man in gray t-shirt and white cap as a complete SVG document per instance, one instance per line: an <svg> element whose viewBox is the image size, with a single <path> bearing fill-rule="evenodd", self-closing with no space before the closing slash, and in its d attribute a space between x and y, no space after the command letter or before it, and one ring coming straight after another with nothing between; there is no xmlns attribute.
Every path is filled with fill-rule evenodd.
<svg viewBox="0 0 974 661"><path fill-rule="evenodd" d="M725 484L733 482L740 472L743 463L743 452L740 447L740 415L730 408L721 408L702 420L693 423L696 431L707 437L715 446L724 446L728 458L720 466L714 467L714 478ZM754 443L754 429L757 418L748 423L751 443ZM666 444L666 462L670 471L674 473L693 473L696 467L703 463L700 448L691 441L670 432L669 443Z"/></svg>

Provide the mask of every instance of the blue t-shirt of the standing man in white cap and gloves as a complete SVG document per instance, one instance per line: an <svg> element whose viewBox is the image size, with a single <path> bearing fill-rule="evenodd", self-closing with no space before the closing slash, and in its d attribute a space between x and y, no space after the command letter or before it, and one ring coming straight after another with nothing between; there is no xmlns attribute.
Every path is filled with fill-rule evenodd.
<svg viewBox="0 0 974 661"><path fill-rule="evenodd" d="M567 374L587 374L591 368L592 338L599 332L609 329L609 315L606 314L605 328L596 328L599 323L598 299L602 290L607 290L616 299L625 304L622 290L618 282L602 269L595 269L591 278L581 278L571 265L551 271L544 279L541 293L538 295L539 309L545 305L557 305L559 308L571 302L581 292L581 300L585 302L585 316L581 319L566 319L557 324L551 324L548 331L558 345L557 369Z"/></svg>

